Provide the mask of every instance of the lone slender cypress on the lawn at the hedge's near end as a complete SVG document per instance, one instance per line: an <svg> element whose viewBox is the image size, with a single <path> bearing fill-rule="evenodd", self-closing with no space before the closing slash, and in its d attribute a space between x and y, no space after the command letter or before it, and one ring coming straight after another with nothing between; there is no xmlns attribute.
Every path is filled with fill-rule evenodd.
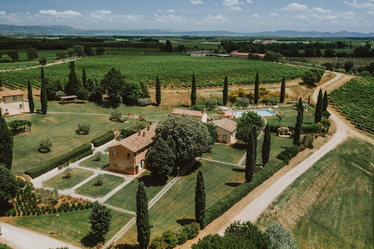
<svg viewBox="0 0 374 249"><path fill-rule="evenodd" d="M195 188L195 218L197 223L200 224L200 228L204 228L205 218L205 186L203 172L201 169L197 173L197 181Z"/></svg>

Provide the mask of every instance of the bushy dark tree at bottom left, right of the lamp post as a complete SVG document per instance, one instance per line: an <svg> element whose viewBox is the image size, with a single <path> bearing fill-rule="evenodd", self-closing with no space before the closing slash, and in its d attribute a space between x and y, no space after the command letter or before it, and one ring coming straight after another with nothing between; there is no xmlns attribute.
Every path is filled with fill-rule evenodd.
<svg viewBox="0 0 374 249"><path fill-rule="evenodd" d="M92 211L90 214L91 231L98 239L104 241L105 235L109 231L113 213L106 205L98 201L92 203Z"/></svg>

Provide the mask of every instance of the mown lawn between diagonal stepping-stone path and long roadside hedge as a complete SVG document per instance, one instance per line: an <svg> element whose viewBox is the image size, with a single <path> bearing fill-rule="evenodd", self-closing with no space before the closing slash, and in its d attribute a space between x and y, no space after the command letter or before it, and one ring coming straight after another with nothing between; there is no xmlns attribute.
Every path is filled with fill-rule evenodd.
<svg viewBox="0 0 374 249"><path fill-rule="evenodd" d="M181 225L195 221L196 176L200 168L204 176L206 207L211 206L217 199L245 181L242 167L206 160L197 161L186 176L181 176L179 184L174 184L149 210L150 224L153 225L151 238L160 236L167 230L177 230ZM135 192L133 196L132 198L135 199ZM150 199L148 194L148 200ZM133 226L117 244L135 243L136 229L136 226Z"/></svg>

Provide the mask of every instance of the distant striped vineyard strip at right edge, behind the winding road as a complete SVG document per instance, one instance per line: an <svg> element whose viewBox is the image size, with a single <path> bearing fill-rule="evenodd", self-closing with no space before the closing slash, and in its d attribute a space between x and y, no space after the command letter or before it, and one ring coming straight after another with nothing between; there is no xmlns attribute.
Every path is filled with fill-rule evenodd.
<svg viewBox="0 0 374 249"><path fill-rule="evenodd" d="M344 65L345 62L347 61L352 61L353 64L355 65L360 65L360 66L366 66L369 65L370 62L374 62L374 58L346 58L346 57L284 57L284 60L287 61L298 61L298 62L304 62L304 63L309 63L309 64L314 64L314 65L322 65L325 62L331 62L339 63L340 65Z"/></svg>

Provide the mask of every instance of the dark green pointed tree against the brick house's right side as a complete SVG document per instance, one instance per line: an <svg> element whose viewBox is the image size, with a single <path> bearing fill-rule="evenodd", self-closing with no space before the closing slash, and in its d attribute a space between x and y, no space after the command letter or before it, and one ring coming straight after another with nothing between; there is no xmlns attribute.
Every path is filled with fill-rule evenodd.
<svg viewBox="0 0 374 249"><path fill-rule="evenodd" d="M153 145L152 150L148 152L146 159L151 175L163 180L173 170L175 155L168 144L162 138L159 138Z"/></svg>

